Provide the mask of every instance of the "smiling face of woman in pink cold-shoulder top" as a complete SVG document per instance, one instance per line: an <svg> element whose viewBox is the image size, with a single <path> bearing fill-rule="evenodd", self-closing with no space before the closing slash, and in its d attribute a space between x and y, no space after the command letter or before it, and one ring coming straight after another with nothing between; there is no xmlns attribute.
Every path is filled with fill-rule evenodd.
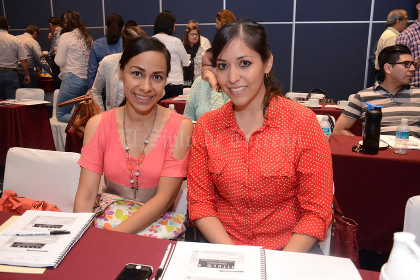
<svg viewBox="0 0 420 280"><path fill-rule="evenodd" d="M130 58L118 73L124 83L127 104L146 113L154 110L163 96L167 74L162 52L145 51Z"/></svg>

